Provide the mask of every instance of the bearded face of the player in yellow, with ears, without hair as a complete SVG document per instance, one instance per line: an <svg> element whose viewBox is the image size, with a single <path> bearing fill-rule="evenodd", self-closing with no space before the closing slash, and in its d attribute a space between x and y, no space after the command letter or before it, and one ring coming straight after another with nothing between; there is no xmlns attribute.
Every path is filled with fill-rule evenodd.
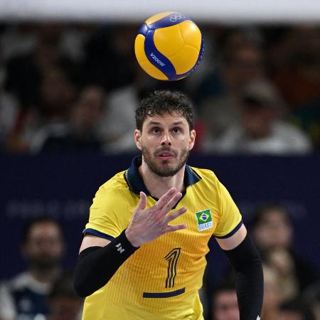
<svg viewBox="0 0 320 320"><path fill-rule="evenodd" d="M190 132L186 118L176 112L147 117L142 132L138 129L134 132L146 165L158 176L174 176L183 168L195 137L196 132Z"/></svg>

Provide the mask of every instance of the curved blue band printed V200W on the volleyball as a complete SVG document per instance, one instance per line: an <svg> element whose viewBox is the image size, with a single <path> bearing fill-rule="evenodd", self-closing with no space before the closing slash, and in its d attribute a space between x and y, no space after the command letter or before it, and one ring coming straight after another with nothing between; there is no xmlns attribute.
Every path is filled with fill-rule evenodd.
<svg viewBox="0 0 320 320"><path fill-rule="evenodd" d="M148 58L149 63L164 73L169 80L176 80L176 69L174 65L154 45L154 30L149 30L148 33L146 33L144 52L146 53L146 58Z"/></svg>

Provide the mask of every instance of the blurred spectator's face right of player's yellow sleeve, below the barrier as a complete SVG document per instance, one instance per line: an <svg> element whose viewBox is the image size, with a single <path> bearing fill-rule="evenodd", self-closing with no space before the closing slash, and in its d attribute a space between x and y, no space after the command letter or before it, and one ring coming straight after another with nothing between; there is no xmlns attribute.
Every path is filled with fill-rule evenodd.
<svg viewBox="0 0 320 320"><path fill-rule="evenodd" d="M292 244L292 225L278 209L264 213L260 223L253 230L255 242L262 250L274 247L289 248Z"/></svg>

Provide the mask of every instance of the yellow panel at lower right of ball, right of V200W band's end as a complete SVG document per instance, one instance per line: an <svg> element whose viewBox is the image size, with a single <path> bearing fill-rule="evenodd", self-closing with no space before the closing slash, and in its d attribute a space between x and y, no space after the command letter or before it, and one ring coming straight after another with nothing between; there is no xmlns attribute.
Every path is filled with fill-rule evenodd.
<svg viewBox="0 0 320 320"><path fill-rule="evenodd" d="M171 63L174 65L176 69L177 75L181 75L182 73L188 73L198 60L199 50L194 48L193 46L183 46L181 50L170 58Z"/></svg>

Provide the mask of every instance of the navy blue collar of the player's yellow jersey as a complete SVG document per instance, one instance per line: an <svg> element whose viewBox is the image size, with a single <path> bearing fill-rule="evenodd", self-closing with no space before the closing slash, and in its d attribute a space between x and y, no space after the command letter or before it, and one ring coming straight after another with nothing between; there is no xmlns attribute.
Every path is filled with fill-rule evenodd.
<svg viewBox="0 0 320 320"><path fill-rule="evenodd" d="M131 166L124 173L124 177L127 181L129 188L134 192L139 194L140 191L146 193L147 196L151 196L149 191L144 186L144 181L139 174L138 168L142 164L142 156L135 156L132 159ZM183 183L185 187L191 186L194 183L197 183L201 180L201 176L199 176L193 169L191 169L188 164L186 164L186 169L184 171Z"/></svg>

